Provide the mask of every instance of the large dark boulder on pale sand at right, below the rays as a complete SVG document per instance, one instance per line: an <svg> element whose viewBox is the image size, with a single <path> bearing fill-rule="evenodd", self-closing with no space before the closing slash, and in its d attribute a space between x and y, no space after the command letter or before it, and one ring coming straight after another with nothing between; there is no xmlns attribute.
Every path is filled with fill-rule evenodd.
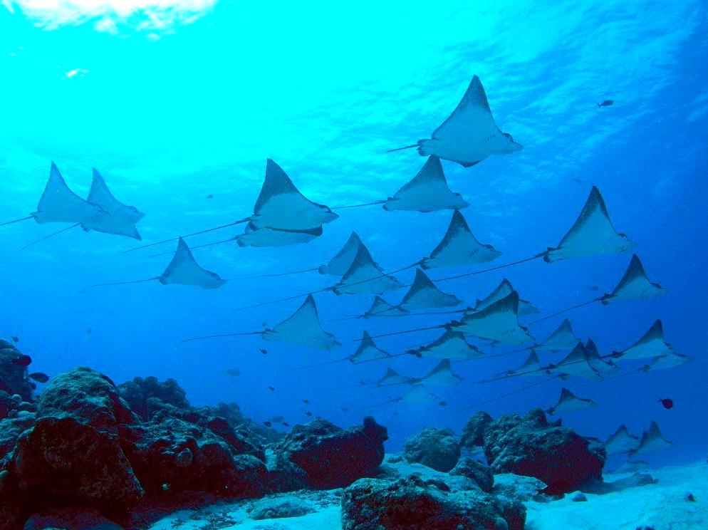
<svg viewBox="0 0 708 530"><path fill-rule="evenodd" d="M562 494L602 479L602 444L548 422L541 409L524 416L508 415L494 421L477 416L469 422L468 445L483 442L484 455L494 473L536 477L548 493ZM474 434L472 434L474 433Z"/></svg>

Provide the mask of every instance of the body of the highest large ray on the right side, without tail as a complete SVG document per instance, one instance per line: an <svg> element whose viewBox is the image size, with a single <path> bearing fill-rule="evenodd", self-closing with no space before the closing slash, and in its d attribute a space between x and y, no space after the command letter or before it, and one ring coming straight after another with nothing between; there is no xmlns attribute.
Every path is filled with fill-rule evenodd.
<svg viewBox="0 0 708 530"><path fill-rule="evenodd" d="M543 254L546 261L618 254L637 244L615 231L600 190L593 186L581 214L558 246Z"/></svg>

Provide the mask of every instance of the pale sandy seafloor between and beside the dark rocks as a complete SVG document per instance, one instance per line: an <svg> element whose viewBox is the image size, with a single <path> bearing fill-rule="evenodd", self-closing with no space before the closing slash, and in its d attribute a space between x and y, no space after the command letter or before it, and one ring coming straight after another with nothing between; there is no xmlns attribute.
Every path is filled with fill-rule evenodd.
<svg viewBox="0 0 708 530"><path fill-rule="evenodd" d="M391 455L387 455L390 457ZM385 461L385 462L386 462ZM385 463L401 476L420 473L441 477L422 464ZM585 494L587 502L574 502L573 494L553 502L529 501L526 504L527 530L708 530L708 463L645 469L655 484L632 487L621 492ZM606 473L611 482L630 476ZM496 475L495 482L509 483L533 479L514 475ZM315 511L299 517L254 520L249 516L255 502L219 503L197 511L182 510L157 521L150 530L332 530L341 528L340 497L342 490L278 494L270 499L298 497ZM694 501L687 499L692 494ZM434 529L431 529L434 530Z"/></svg>

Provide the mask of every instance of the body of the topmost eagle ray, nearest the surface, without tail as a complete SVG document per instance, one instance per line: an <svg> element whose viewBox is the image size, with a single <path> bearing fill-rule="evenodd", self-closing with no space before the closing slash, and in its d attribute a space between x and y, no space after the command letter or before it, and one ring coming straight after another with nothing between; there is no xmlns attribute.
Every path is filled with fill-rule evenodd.
<svg viewBox="0 0 708 530"><path fill-rule="evenodd" d="M432 139L418 140L421 155L436 155L464 167L475 165L489 155L506 155L522 148L496 126L477 76L472 78L457 108L434 130Z"/></svg>

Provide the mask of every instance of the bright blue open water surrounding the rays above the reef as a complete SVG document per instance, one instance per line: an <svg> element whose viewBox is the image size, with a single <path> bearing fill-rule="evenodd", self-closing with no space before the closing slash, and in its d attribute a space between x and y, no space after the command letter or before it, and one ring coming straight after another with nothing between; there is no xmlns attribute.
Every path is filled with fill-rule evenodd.
<svg viewBox="0 0 708 530"><path fill-rule="evenodd" d="M564 415L563 421L605 439L620 423L638 433L657 420L675 443L653 457L658 462L705 456L708 21L703 2L485 1L425 9L397 2L111 4L1 3L0 221L33 212L52 160L84 197L96 167L118 199L146 213L138 225L145 242L250 214L267 157L316 202L338 206L385 199L424 162L415 150L385 151L429 137L476 74L501 130L524 150L469 169L443 164L452 189L470 202L464 215L474 234L504 252L494 264L556 245L596 185L613 224L637 241L647 274L667 293L568 313L576 333L610 353L633 343L660 318L667 341L692 356L692 362L670 370L577 389L569 383L598 406ZM605 99L615 104L598 108ZM194 255L224 278L308 269L326 263L355 229L376 261L394 270L428 254L448 222L449 212L346 209L306 245L223 244ZM529 382L471 384L524 360L524 354L509 355L455 365L465 381L434 389L445 407L382 405L403 390L336 389L376 380L387 366L420 376L436 361L402 357L298 369L353 353L363 329L378 334L445 321L430 316L334 320L365 311L370 296L316 295L323 327L343 343L338 350L264 343L257 336L182 344L196 335L273 326L302 298L236 309L317 291L333 279L310 273L234 281L212 291L157 282L91 289L157 276L170 256L123 254L135 241L80 230L21 250L56 229L31 221L0 227L0 336L17 336L18 347L34 360L32 368L50 375L89 365L117 383L135 375L172 377L193 404L234 401L259 421L283 415L291 424L306 422L305 412L311 411L350 425L374 415L389 429L389 450L425 426L459 431L478 408L496 416L548 407L563 384L554 380L519 393L512 391ZM189 244L239 232L232 227ZM471 304L506 277L543 316L598 296L593 286L600 293L612 289L629 258L529 261L440 287ZM469 270L434 271L431 277ZM413 272L399 276L410 283ZM386 298L398 301L402 292ZM538 323L531 333L544 338L562 318ZM428 331L378 344L401 353L435 337ZM230 368L242 375L226 375ZM672 398L675 407L665 410L660 398ZM486 400L494 401L476 406Z"/></svg>

